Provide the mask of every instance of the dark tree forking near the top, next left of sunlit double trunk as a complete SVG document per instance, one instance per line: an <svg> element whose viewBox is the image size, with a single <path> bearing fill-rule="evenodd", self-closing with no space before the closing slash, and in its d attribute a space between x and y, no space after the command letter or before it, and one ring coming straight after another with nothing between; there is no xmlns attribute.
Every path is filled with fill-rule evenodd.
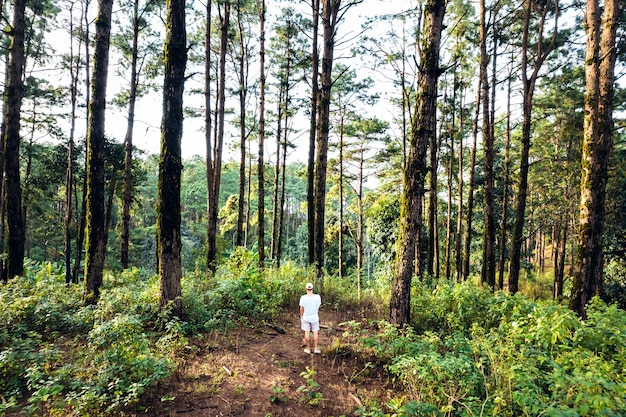
<svg viewBox="0 0 626 417"><path fill-rule="evenodd" d="M552 9L554 8L554 9ZM533 11L539 13L537 37L531 39ZM547 25L547 17L554 13L554 28L551 39L544 39L544 30ZM539 70L546 58L554 50L558 35L559 2L548 0L546 3L537 4L531 0L524 2L524 29L522 32L522 62L521 77L523 84L522 103L522 148L520 155L519 184L517 187L517 205L515 207L515 221L513 235L511 236L511 261L509 264L509 291L515 294L519 288L519 274L521 265L521 249L523 244L524 221L526 213L528 193L528 167L530 155L530 134L532 129L533 95L535 84L539 77ZM531 51L535 45L536 50ZM530 74L528 71L530 71Z"/></svg>

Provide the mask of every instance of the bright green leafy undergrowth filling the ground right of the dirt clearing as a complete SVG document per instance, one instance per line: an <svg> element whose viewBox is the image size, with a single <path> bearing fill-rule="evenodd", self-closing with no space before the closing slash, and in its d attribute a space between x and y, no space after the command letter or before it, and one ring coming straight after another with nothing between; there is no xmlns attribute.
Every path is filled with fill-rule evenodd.
<svg viewBox="0 0 626 417"><path fill-rule="evenodd" d="M623 415L623 310L596 298L582 321L553 302L471 283L416 293L415 327L357 329L354 348L385 364L407 394L360 415L410 415L403 407L433 416Z"/></svg>

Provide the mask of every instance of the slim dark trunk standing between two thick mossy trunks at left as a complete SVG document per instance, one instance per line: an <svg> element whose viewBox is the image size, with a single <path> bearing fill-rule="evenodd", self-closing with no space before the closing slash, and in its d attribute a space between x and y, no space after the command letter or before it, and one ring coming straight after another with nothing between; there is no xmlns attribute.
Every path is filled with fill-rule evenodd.
<svg viewBox="0 0 626 417"><path fill-rule="evenodd" d="M128 96L128 123L124 137L124 191L122 197L122 268L128 268L130 243L130 209L133 189L133 128L135 125L135 102L137 101L137 56L139 53L139 0L133 5L133 50L130 65L130 93Z"/></svg>

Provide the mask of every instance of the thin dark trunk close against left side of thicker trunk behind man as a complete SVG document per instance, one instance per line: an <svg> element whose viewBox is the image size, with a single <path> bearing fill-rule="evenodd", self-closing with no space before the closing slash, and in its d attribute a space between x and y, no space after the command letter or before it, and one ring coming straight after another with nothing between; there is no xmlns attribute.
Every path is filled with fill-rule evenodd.
<svg viewBox="0 0 626 417"><path fill-rule="evenodd" d="M317 37L319 30L320 0L311 0L313 36L311 38L311 116L309 126L309 159L307 167L307 228L308 260L315 263L315 137L317 132L317 112L319 108L319 51Z"/></svg>

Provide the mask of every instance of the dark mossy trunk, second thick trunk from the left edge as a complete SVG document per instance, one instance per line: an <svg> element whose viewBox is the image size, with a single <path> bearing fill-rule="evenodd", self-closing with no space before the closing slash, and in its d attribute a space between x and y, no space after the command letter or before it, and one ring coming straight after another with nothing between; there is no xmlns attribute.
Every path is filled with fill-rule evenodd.
<svg viewBox="0 0 626 417"><path fill-rule="evenodd" d="M87 244L85 247L85 294L87 304L95 304L100 297L105 257L104 209L104 115L111 38L113 0L98 2L94 68L89 103L87 132Z"/></svg>

